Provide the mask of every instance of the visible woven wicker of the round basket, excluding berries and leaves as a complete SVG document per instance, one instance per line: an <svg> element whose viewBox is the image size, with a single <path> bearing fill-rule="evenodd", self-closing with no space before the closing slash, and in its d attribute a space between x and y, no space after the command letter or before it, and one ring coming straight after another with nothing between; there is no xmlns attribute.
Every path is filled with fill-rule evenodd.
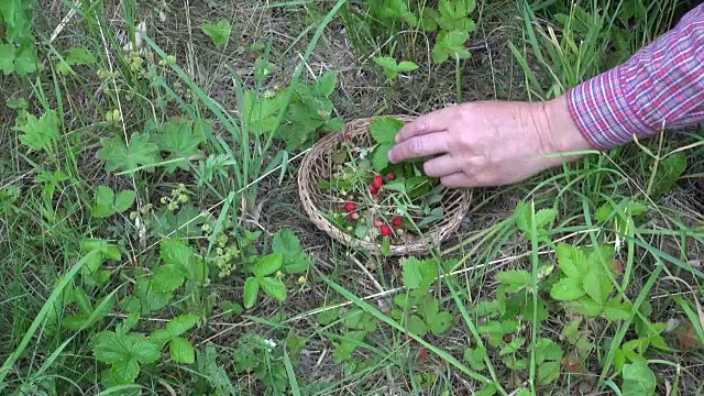
<svg viewBox="0 0 704 396"><path fill-rule="evenodd" d="M415 118L408 116L395 116L395 118L409 122ZM358 146L372 146L372 139L369 133L370 123L375 118L360 119L349 122L341 132L332 133L321 139L306 154L298 172L298 187L304 208L312 222L322 231L332 237L336 241L355 250L381 255L382 250L378 243L365 242L350 235L332 224L320 212L329 212L333 208L340 208L343 200L340 197L330 196L318 188L318 180L331 173L330 153L337 151L344 144L345 136L351 139ZM404 244L392 244L391 255L414 255L428 252L430 246L437 246L460 227L464 215L471 204L469 190L447 190L442 199L444 217L442 220L430 224L422 237L405 241Z"/></svg>

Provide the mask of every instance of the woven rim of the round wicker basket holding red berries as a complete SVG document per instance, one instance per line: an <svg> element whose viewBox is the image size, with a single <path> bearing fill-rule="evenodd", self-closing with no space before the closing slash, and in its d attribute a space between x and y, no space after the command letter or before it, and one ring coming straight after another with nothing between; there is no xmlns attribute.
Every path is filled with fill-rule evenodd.
<svg viewBox="0 0 704 396"><path fill-rule="evenodd" d="M397 114L397 116L376 116L370 118L362 118L349 121L344 123L344 127L341 131L328 134L319 140L311 150L304 156L304 160L300 164L298 170L298 187L299 187L299 196L302 202L304 209L306 213L310 218L310 220L323 232L330 235L333 240L342 243L349 248L354 250L363 250L373 255L382 255L381 243L365 242L353 235L343 232L338 227L333 226L328 219L320 215L316 202L314 202L311 189L317 189L315 183L312 183L314 177L311 177L312 164L316 160L324 155L330 148L340 144L344 136L348 134L356 135L365 135L369 134L369 124L374 120L385 117L394 117L402 121L409 122L416 119L413 116ZM360 125L366 125L365 128L359 129ZM447 194L447 193L446 193ZM400 255L413 255L413 254L422 254L429 251L431 246L438 246L444 240L447 240L450 234L454 233L462 223L466 211L470 208L472 201L471 190L466 189L455 189L451 191L453 196L455 196L455 200L458 201L458 207L451 211L450 215L446 213L446 218L443 221L447 221L447 224L442 227L438 227L436 229L429 230L429 232L425 233L422 237L410 243L404 244L392 244L391 245L391 255L392 256L400 256ZM454 201L453 201L454 202Z"/></svg>

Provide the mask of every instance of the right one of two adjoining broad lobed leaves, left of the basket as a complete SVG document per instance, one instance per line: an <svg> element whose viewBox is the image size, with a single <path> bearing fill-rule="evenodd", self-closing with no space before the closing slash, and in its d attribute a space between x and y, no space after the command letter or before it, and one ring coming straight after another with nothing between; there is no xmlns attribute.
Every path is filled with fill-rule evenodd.
<svg viewBox="0 0 704 396"><path fill-rule="evenodd" d="M154 142L161 151L168 152L164 165L166 173L174 173L177 168L190 169L191 158L201 157L202 151L198 146L205 142L202 133L194 133L193 122L183 118L176 118L163 125L163 132L154 136Z"/></svg>

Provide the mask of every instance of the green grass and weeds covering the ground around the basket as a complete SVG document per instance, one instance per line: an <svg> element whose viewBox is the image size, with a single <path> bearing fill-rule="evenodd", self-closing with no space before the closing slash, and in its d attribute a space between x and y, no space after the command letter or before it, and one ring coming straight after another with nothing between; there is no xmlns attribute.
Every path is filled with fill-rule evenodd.
<svg viewBox="0 0 704 396"><path fill-rule="evenodd" d="M437 8L407 3L418 15ZM654 372L656 394L664 394L666 384L671 394L697 394L704 388L701 130L587 153L519 185L474 191L459 238L425 257L422 265L436 272L428 289L409 286L405 261L356 253L316 229L296 184L307 148L286 150L275 132L286 124L309 127L285 105L300 98L300 82L320 80L329 70L338 72L330 109L345 121L426 112L464 98L557 97L626 59L681 13L674 2L644 1L647 18L626 21L624 10L634 3L479 1L476 30L465 43L472 57L443 64L431 61L436 33L370 19L374 11L366 1L191 1L182 12L183 6L147 8L133 0L117 8L65 0L51 12L35 9L31 34L42 43L44 68L3 75L0 88L3 100L26 100L0 107L2 393L463 395L471 388L627 395L634 382L648 383ZM76 15L50 42L72 8ZM201 30L220 19L233 26L224 45ZM123 52L122 35L144 20L143 54ZM0 42L7 43L3 26ZM85 48L95 62L62 73L70 48ZM387 82L372 61L386 55L419 69ZM271 74L257 73L267 63L274 65ZM278 107L267 101L277 89ZM248 92L258 98L254 105ZM121 119L111 123L106 113L113 110ZM57 136L29 150L13 127L50 111L56 112ZM193 134L197 154L168 157L161 146L151 154L158 158L113 172L96 157L102 140L134 132L152 139L162 132L150 131L147 122L163 128L176 116L211 123ZM273 127L257 134L264 121ZM53 130L47 125L35 129L35 138ZM190 132L179 133L185 140ZM185 166L172 173L169 164ZM92 208L101 185L133 190L136 198L129 209L99 218ZM175 210L164 204L170 199ZM277 248L284 229L299 239L310 265L266 274L275 283L270 287L280 280L286 299L262 289L254 307L244 309L245 278L258 257L277 249L297 252L292 241ZM206 265L188 248L164 248L172 238L206 257ZM90 251L89 239L114 245L120 257ZM561 244L612 246L623 274L598 258L593 271L627 317L585 315L551 297L564 277L557 258ZM233 246L234 258L221 260ZM220 277L223 263L232 272ZM96 282L100 271L109 274L106 282ZM497 279L502 273L501 279L522 279L520 287L507 292L512 284ZM168 286L178 278L183 284ZM406 305L409 298L418 304ZM152 305L158 307L143 311ZM432 320L419 326L414 319L427 311L447 311L451 320L430 331ZM148 345L125 349L133 339L117 346L100 342L108 331L153 342L160 329L185 315L198 322L173 337L193 345L193 362L187 348L167 345L151 361L141 354ZM575 318L582 320L579 342L565 336ZM668 349L658 348L660 339ZM546 358L546 340L559 346L559 361ZM100 348L139 363L134 381L116 381L131 376L127 363L119 376L106 374L119 363L100 355ZM485 355L470 359L482 349ZM640 371L631 375L631 369Z"/></svg>

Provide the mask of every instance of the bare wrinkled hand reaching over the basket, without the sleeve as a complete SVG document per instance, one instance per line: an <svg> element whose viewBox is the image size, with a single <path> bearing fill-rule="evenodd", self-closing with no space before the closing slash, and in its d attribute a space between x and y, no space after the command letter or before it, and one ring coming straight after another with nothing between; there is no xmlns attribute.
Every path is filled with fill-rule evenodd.
<svg viewBox="0 0 704 396"><path fill-rule="evenodd" d="M591 148L564 97L543 103L480 101L419 117L396 136L392 163L426 158L424 170L448 187L521 182Z"/></svg>

